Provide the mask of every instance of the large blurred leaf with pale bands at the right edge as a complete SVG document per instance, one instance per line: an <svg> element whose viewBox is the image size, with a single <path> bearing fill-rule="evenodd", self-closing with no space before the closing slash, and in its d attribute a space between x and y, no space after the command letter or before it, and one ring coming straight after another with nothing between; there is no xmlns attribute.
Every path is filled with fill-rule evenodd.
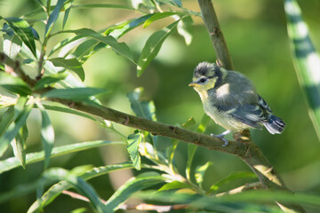
<svg viewBox="0 0 320 213"><path fill-rule="evenodd" d="M300 86L306 94L310 107L308 113L320 140L320 57L311 41L308 25L302 19L297 1L285 0L284 11L288 20L288 35L295 70Z"/></svg>

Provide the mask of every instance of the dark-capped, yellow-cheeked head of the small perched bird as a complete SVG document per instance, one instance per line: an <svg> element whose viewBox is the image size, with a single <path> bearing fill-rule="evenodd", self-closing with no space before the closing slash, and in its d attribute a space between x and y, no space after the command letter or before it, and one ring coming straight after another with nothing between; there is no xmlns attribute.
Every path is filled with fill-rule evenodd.
<svg viewBox="0 0 320 213"><path fill-rule="evenodd" d="M226 75L226 69L214 63L201 62L196 66L192 83L188 86L192 86L198 92L208 91L219 86Z"/></svg>

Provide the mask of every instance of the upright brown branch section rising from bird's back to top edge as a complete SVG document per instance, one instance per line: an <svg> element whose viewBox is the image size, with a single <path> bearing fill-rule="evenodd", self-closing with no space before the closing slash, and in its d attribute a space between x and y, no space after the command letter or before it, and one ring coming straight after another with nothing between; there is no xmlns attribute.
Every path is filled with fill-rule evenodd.
<svg viewBox="0 0 320 213"><path fill-rule="evenodd" d="M203 15L205 28L207 28L212 40L213 48L220 66L225 67L228 70L235 70L228 52L227 43L220 29L217 15L214 12L212 1L198 0L198 4Z"/></svg>

